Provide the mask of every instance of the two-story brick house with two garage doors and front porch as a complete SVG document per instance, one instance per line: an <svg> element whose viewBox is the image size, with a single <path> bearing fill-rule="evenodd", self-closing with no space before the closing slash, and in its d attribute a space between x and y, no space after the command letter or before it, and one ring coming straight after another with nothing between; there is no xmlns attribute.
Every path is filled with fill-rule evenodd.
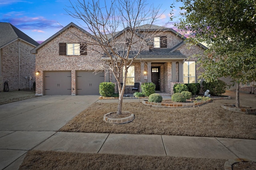
<svg viewBox="0 0 256 170"><path fill-rule="evenodd" d="M200 70L196 69L196 58L188 60L188 57L202 54L206 47L201 44L188 46L184 43L186 38L174 29L152 26L152 30L159 28L162 33L152 40L152 47L141 51L128 69L126 93L131 93L134 82L154 82L156 91L170 94L176 83L198 82ZM84 29L70 23L31 51L36 54L36 95L99 94L100 82L115 82L108 70L94 74L92 70L99 61L91 59L100 54L89 45L82 49L84 46L70 32L82 35L85 41L92 39ZM118 38L125 38L122 31Z"/></svg>

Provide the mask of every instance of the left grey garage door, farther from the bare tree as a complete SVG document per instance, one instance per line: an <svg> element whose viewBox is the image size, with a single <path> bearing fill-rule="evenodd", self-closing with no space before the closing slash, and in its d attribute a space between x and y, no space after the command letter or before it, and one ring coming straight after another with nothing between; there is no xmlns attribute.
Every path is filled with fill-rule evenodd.
<svg viewBox="0 0 256 170"><path fill-rule="evenodd" d="M44 72L44 95L71 95L71 71Z"/></svg>

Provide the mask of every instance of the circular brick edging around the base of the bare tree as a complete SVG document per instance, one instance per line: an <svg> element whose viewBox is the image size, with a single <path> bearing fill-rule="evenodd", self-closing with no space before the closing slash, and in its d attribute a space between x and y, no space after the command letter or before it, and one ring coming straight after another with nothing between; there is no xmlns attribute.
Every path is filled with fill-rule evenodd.
<svg viewBox="0 0 256 170"><path fill-rule="evenodd" d="M131 121L133 121L134 119L134 114L132 114L131 112L129 111L125 111L125 113L129 113L130 116L128 117L122 117L122 118L110 118L108 117L108 115L112 114L112 113L116 113L116 112L109 112L109 113L106 113L104 116L103 116L103 120L108 122L108 123L112 123L112 124L125 124L125 123L129 123Z"/></svg>

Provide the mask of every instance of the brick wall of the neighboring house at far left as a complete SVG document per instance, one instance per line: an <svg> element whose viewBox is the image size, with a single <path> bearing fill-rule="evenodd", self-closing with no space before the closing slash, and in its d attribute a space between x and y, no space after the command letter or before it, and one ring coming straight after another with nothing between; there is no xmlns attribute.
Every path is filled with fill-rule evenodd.
<svg viewBox="0 0 256 170"><path fill-rule="evenodd" d="M20 42L20 87L19 87L19 49L18 40L2 48L2 80L0 91L3 90L4 82L8 80L10 91L20 89L30 89L29 80L25 77L35 78L35 55L30 51L34 46ZM31 80L31 88L33 82Z"/></svg>

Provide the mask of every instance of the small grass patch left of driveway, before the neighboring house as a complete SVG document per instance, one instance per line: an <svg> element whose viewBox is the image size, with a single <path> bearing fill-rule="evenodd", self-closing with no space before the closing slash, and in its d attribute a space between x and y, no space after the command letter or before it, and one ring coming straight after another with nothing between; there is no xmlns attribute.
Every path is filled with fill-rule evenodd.
<svg viewBox="0 0 256 170"><path fill-rule="evenodd" d="M34 90L12 91L12 92L2 92L1 91L0 92L0 105L38 97L35 94L36 94L36 92Z"/></svg>

